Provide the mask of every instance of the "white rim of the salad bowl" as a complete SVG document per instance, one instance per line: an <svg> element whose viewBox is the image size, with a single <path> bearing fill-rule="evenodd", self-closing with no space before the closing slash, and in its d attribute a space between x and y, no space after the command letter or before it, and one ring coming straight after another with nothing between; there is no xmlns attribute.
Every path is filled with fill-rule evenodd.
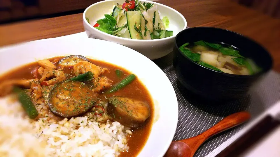
<svg viewBox="0 0 280 157"><path fill-rule="evenodd" d="M98 4L100 4L100 3L106 3L106 2L108 2L108 1L119 1L119 0L100 1L100 2L93 3L92 5L88 6L88 8L86 8L85 11L83 12L83 22L84 22L87 26L89 26L90 28L92 28L93 30L96 30L97 32L99 32L99 33L101 33L101 34L106 35L107 37L112 37L112 38L116 38L116 39L122 39L122 40L126 40L126 41L140 41L140 42L164 41L164 40L169 40L169 39L172 39L172 38L175 38L175 37L176 37L175 35L172 35L171 37L162 38L162 39L148 39L148 40L129 39L129 38L122 38L122 37L114 36L114 35L111 35L111 34L107 34L107 33L105 33L105 32L102 32L102 31L100 31L100 30L94 28L94 27L93 27L91 24L89 24L89 23L87 22L87 20L85 19L85 13L86 13L86 12L89 10L89 8L91 8L92 6L98 5ZM169 6L166 6L166 5L164 5L164 4L160 4L160 3L154 2L154 1L146 1L146 0L139 0L139 1L141 1L141 2L153 3L153 4L156 4L156 5L158 5L158 6L163 6L163 7L165 7L165 8L168 8L168 9L174 11L174 12L177 13L179 16L181 16L181 18L182 18L183 21L184 21L184 28L183 28L181 31L183 31L183 30L185 30L185 29L187 28L187 21L186 21L185 17L184 17L181 13L179 13L177 10L175 10L175 9L169 7ZM181 31L180 31L180 32L181 32ZM179 32L179 33L180 33L180 32ZM178 33L178 34L179 34L179 33Z"/></svg>

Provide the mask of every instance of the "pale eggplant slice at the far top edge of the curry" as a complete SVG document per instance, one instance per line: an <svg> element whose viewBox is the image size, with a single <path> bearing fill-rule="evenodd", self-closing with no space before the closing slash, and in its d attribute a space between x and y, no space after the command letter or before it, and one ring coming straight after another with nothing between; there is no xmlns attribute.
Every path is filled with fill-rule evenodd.
<svg viewBox="0 0 280 157"><path fill-rule="evenodd" d="M67 57L62 58L61 60L58 61L58 66L62 67L62 66L73 66L81 61L88 61L88 58L81 56L81 55L70 55Z"/></svg>

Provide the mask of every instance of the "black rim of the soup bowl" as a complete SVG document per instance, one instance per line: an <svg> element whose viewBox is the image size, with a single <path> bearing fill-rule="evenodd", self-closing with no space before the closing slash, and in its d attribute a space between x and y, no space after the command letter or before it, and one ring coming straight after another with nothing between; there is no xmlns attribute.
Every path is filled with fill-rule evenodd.
<svg viewBox="0 0 280 157"><path fill-rule="evenodd" d="M271 64L269 65L269 68L268 68L267 70L265 70L265 71L261 71L261 72L258 72L258 73L256 73L256 74L252 74L252 75L238 75L238 74L228 74L228 73L224 73L224 72L218 72L218 71L215 71L215 70L213 70L213 69L209 69L209 68L207 68L207 67L204 67L204 66L202 66L202 65L200 65L200 64L198 64L198 63L192 61L190 58L188 58L187 56L185 56L185 55L183 54L183 52L179 49L179 47L178 47L178 45L177 45L177 38L178 38L178 36L179 36L181 33L183 33L185 30L192 30L192 29L199 29L199 28L200 28L200 29L209 28L209 29L217 29L217 30L221 30L221 31L229 31L229 32L232 32L232 33L237 34L239 37L245 38L246 40L250 40L250 41L252 41L252 42L258 44L262 49L265 50L265 52L267 52L267 54L268 54L268 56L269 56L269 58L270 58L270 60L271 60ZM272 68L272 66L273 66L273 58L272 58L271 54L267 51L267 49L265 49L261 44L259 44L259 43L256 42L255 40L253 40L253 39L251 39L251 38L248 38L248 37L246 37L245 35L242 35L242 34L240 34L240 33L237 33L237 32L234 32L234 31L230 31L230 30L227 30L227 29L216 28L216 27L191 27L191 28L188 28L188 29L185 29L185 30L179 32L179 33L176 35L174 47L176 47L176 49L179 51L179 53L180 53L181 55L184 56L184 58L186 58L187 60L191 61L192 63L195 63L196 65L199 65L199 66L201 66L201 67L203 67L203 68L205 68L205 69L208 69L208 70L211 70L211 71L213 71L213 72L216 72L216 73L219 73L219 74L222 74L222 75L226 75L226 76L231 76L231 77L232 77L232 76L235 76L235 77L239 77L239 78L240 78L240 77L243 77L243 78L250 78L250 77L260 76L261 74L266 73L266 72L269 71L269 70Z"/></svg>

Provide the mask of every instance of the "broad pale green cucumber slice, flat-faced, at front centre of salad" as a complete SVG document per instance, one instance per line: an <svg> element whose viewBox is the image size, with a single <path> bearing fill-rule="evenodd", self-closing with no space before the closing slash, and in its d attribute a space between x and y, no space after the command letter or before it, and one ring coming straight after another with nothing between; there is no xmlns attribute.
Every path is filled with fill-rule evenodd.
<svg viewBox="0 0 280 157"><path fill-rule="evenodd" d="M127 17L127 28L130 34L131 39L142 39L141 32L137 32L134 28L134 24L136 23L136 26L141 26L141 11L127 11L126 12Z"/></svg>

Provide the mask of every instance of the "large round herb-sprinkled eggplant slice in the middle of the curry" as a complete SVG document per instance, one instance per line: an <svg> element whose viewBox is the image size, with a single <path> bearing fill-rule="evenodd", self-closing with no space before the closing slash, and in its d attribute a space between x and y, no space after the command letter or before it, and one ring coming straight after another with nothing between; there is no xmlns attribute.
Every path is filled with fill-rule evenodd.
<svg viewBox="0 0 280 157"><path fill-rule="evenodd" d="M48 97L50 110L67 118L87 112L96 101L97 95L79 81L63 81L54 85Z"/></svg>

